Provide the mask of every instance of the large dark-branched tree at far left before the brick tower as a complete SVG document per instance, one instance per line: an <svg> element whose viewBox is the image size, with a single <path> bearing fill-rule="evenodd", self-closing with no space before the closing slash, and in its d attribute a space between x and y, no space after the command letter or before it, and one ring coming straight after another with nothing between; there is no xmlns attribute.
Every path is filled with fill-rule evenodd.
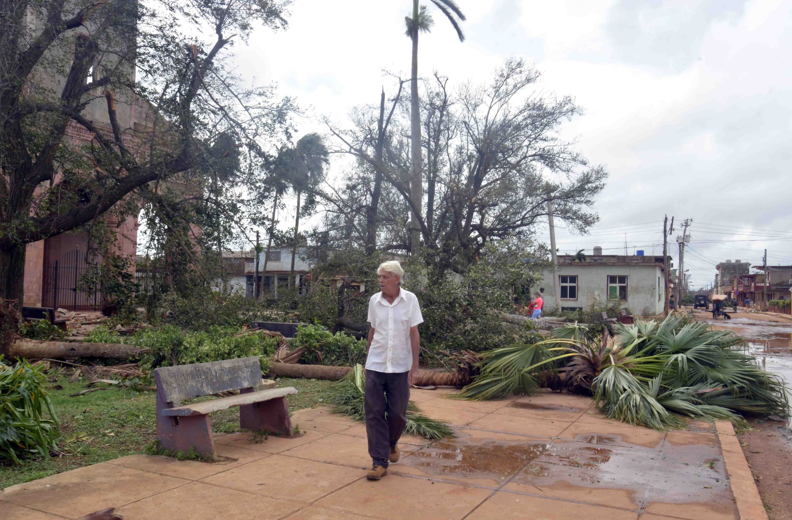
<svg viewBox="0 0 792 520"><path fill-rule="evenodd" d="M185 211L166 180L192 187L179 204L220 213L233 198L219 186L243 181L223 172L261 183L253 173L289 138L293 107L270 87L243 88L230 49L256 23L283 28L286 4L2 2L0 298L21 300L32 242L123 222L147 204Z"/></svg>

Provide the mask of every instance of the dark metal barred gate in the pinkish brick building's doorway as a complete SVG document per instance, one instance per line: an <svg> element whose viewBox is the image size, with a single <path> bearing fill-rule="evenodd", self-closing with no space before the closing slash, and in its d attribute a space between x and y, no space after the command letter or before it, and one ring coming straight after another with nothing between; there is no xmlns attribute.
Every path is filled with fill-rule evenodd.
<svg viewBox="0 0 792 520"><path fill-rule="evenodd" d="M102 304L101 287L89 287L84 279L90 269L86 253L78 249L45 265L41 305L54 309L98 310Z"/></svg>

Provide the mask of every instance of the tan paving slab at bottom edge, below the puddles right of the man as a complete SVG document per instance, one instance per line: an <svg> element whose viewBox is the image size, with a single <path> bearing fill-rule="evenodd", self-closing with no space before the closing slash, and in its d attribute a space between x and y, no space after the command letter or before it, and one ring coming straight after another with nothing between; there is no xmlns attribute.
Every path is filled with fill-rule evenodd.
<svg viewBox="0 0 792 520"><path fill-rule="evenodd" d="M482 503L466 520L492 520L493 518L514 518L515 520L636 520L638 513L612 507L592 506L583 503L566 502L497 492Z"/></svg>

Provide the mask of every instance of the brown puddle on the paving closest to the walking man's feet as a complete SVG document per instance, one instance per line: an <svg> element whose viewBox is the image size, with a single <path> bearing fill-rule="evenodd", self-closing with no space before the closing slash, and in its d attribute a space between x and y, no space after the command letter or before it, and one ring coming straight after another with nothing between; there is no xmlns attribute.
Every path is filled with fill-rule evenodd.
<svg viewBox="0 0 792 520"><path fill-rule="evenodd" d="M403 459L403 464L435 476L467 476L503 481L546 449L546 444L505 442L470 435L434 442Z"/></svg>

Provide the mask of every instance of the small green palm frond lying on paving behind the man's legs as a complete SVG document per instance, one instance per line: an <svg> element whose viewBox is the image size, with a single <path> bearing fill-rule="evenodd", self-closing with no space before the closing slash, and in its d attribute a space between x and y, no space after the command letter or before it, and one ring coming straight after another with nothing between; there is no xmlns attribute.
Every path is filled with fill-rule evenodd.
<svg viewBox="0 0 792 520"><path fill-rule="evenodd" d="M333 405L333 412L350 416L355 420L364 421L366 419L364 410L365 387L366 375L364 368L360 364L355 365L352 368L352 372L341 381L338 381L330 392L328 403ZM418 435L430 439L456 437L446 421L430 419L425 416L413 401L409 401L409 404L407 404L407 427L404 433L405 435Z"/></svg>

